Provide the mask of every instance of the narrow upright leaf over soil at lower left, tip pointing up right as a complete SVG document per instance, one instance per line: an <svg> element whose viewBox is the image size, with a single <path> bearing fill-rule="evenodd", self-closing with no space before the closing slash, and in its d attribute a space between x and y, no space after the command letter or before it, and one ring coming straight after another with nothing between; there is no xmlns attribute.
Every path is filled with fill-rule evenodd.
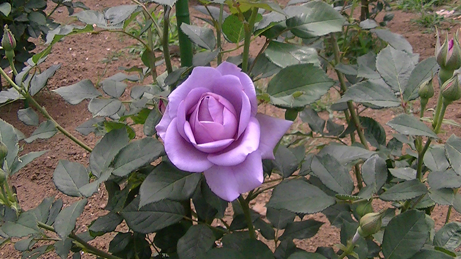
<svg viewBox="0 0 461 259"><path fill-rule="evenodd" d="M83 212L87 202L87 199L80 200L59 212L53 226L61 239L66 239L71 231L74 230L75 222L81 212Z"/></svg>

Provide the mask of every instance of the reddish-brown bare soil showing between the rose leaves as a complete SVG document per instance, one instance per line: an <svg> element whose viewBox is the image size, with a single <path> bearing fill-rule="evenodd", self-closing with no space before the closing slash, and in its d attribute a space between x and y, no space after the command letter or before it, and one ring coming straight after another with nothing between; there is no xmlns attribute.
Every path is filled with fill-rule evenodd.
<svg viewBox="0 0 461 259"><path fill-rule="evenodd" d="M82 2L92 10L103 10L104 8L111 6L130 4L129 0L83 0ZM282 6L285 6L288 1L283 0L279 2ZM52 2L49 2L49 5L51 8L54 7ZM410 19L416 17L414 14L404 13L401 11L393 11L393 13L395 14L394 19L389 22L387 28L405 36L413 46L414 52L421 55L420 60L433 55L435 47L434 33L423 34L421 33L421 28L411 24ZM192 10L192 15L198 15L198 13L195 10ZM57 12L53 14L53 17L56 21L62 24L67 24L73 21L68 17L67 10L65 8L59 8ZM203 21L193 18L193 23L201 25L203 24ZM453 33L456 29L458 29L458 26L453 25L450 32ZM37 51L45 47L43 41L36 42L38 46ZM108 32L66 37L63 41L55 45L52 54L49 55L44 64L44 67L46 68L52 64L62 63L61 69L58 70L49 80L49 90L70 85L86 78L91 79L93 82L97 82L101 78L109 77L120 72L118 70L119 66L142 66L140 58L129 54L128 50L125 49L134 43L135 42L128 37ZM257 40L256 44L252 45L250 53L256 55L262 44L262 39ZM104 58L110 59L115 56L117 59L113 59L109 63L102 62ZM174 62L178 64L177 59L174 59ZM163 68L160 67L158 71L161 71L162 69ZM149 79L145 81L145 83L148 82ZM78 138L88 145L95 145L98 137L93 134L82 136L75 131L75 127L90 119L92 116L87 110L87 101L83 101L78 105L70 105L62 100L60 96L47 90L42 91L37 95L37 101L41 105L45 106L56 121L64 126L69 132L78 136ZM458 101L449 107L446 112L446 118L453 119L458 123L461 122L461 112L458 109L460 107L460 103L461 102ZM413 105L413 110L415 112L418 112L418 105L418 103ZM433 100L429 102L428 107L434 106L435 102ZM26 136L29 136L35 130L35 127L27 126L17 119L16 111L18 109L22 109L22 107L22 102L15 102L11 105L0 107L0 117L18 128ZM274 112L274 110L270 109L267 111L271 113ZM399 110L369 110L364 112L364 115L375 118L384 124L399 113L401 113ZM322 116L327 116L327 114L323 114ZM40 122L41 121L44 121L43 117L40 117ZM391 129L386 126L385 128L387 135L390 136L392 133ZM447 139L453 133L457 136L461 136L461 130L453 126L444 125L443 132L443 139ZM17 188L20 205L25 210L28 210L34 208L41 202L41 200L50 196L62 198L65 206L74 202L76 199L62 195L62 193L56 190L52 181L53 171L60 159L67 159L88 165L89 153L71 142L62 134L56 134L53 138L48 140L36 140L32 144L27 144L24 146L23 153L37 150L49 151L12 177L12 184ZM85 230L93 220L100 215L107 213L107 211L102 209L106 205L107 198L107 192L101 185L99 192L89 198L85 211L77 221L79 231ZM260 213L265 213L263 205L268 198L268 194L261 195L255 201L253 208ZM383 206L383 204L374 205L376 208ZM445 214L446 208L436 207L434 210L432 216L436 221L436 229L442 226ZM325 222L325 224L321 227L319 234L313 238L298 241L297 245L299 247L309 251L315 251L319 246L331 247L334 243L339 242L339 230L330 226L328 220L323 214L317 213L309 215L308 217ZM461 216L458 213L452 213L451 220L460 221ZM112 236L104 235L92 241L91 244L107 251L111 239ZM93 257L89 255L83 256L83 258ZM2 258L20 258L20 253L14 249L12 244L9 244L0 250L0 259ZM49 253L44 258L58 257L54 253Z"/></svg>

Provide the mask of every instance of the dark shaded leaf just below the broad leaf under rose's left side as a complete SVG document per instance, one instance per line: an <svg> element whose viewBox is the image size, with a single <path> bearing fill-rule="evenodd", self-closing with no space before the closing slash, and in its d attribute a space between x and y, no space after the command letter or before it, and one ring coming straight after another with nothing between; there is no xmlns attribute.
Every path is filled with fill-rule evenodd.
<svg viewBox="0 0 461 259"><path fill-rule="evenodd" d="M120 214L127 225L139 233L153 233L182 220L184 207L179 202L163 200L139 208L139 198L135 198Z"/></svg>

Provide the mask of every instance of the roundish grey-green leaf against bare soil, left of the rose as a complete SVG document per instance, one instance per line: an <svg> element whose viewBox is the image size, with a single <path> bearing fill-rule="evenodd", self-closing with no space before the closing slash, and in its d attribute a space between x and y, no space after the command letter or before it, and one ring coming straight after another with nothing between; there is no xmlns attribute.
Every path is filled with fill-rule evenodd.
<svg viewBox="0 0 461 259"><path fill-rule="evenodd" d="M87 169L80 163L59 160L53 172L53 182L56 188L66 195L80 197L78 190L90 182Z"/></svg>

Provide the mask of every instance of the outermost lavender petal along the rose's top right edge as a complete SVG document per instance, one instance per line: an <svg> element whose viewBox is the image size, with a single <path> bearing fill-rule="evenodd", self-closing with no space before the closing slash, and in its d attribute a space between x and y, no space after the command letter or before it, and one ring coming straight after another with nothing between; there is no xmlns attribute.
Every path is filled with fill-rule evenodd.
<svg viewBox="0 0 461 259"><path fill-rule="evenodd" d="M256 90L253 80L247 74L241 72L241 69L233 63L224 61L216 69L221 72L222 75L234 75L240 79L243 91L246 96L248 96L252 105L252 116L255 116L258 111L258 102L256 100Z"/></svg>

